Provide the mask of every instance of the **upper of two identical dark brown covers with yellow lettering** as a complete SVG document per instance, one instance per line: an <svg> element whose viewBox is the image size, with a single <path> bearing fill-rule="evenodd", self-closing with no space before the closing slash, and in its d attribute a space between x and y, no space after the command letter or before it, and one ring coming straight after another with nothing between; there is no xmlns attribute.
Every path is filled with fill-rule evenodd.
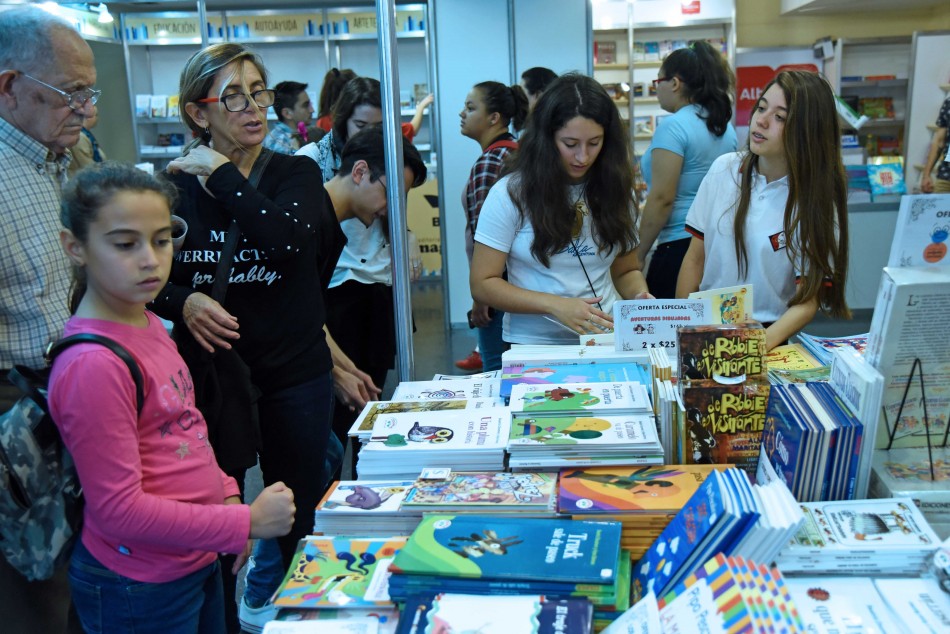
<svg viewBox="0 0 950 634"><path fill-rule="evenodd" d="M685 326L677 330L680 380L735 385L765 380L765 329L757 322Z"/></svg>

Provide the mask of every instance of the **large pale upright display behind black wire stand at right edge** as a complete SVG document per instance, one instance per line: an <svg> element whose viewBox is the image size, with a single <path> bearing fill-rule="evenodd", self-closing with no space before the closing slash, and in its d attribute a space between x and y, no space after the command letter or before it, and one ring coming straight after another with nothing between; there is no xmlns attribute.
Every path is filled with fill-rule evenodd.
<svg viewBox="0 0 950 634"><path fill-rule="evenodd" d="M884 377L878 448L946 443L948 296L950 270L945 267L884 268L866 352Z"/></svg>

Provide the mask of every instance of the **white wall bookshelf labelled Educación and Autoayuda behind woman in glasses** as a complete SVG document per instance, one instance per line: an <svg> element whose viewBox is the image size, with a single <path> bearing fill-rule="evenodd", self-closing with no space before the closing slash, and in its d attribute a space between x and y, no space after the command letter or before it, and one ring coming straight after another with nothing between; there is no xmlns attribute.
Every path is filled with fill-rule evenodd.
<svg viewBox="0 0 950 634"><path fill-rule="evenodd" d="M136 108L136 97L176 95L181 69L203 45L225 41L246 44L263 59L271 86L285 80L307 83L314 105L323 76L331 67L352 68L357 75L379 77L376 14L364 7L223 10L205 15L204 25L197 12L121 16L117 31L126 59L137 162L153 161L160 169L180 154L180 145L168 145L170 135L183 135L184 143L190 140L190 131L178 117L163 113L142 116L141 107ZM432 86L426 17L424 4L399 5L396 11L403 120L415 113L413 87L421 84L431 90ZM267 111L267 118L276 121L273 109ZM177 136L171 138L178 140ZM431 117L427 115L415 145L430 163L434 159L432 140Z"/></svg>

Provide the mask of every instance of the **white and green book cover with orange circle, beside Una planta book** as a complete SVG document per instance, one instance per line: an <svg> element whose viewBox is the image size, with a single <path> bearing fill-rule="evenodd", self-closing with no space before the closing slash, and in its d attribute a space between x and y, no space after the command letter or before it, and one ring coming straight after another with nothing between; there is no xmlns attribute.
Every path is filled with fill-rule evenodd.
<svg viewBox="0 0 950 634"><path fill-rule="evenodd" d="M508 449L545 446L659 444L650 414L626 416L541 416L515 414Z"/></svg>

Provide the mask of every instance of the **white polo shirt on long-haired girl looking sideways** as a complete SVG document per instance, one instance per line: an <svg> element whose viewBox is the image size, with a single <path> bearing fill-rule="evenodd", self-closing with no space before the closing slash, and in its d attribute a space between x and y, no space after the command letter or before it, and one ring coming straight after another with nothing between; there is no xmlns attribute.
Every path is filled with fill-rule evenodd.
<svg viewBox="0 0 950 634"><path fill-rule="evenodd" d="M739 203L741 153L720 156L709 168L686 216L686 230L702 238L706 252L699 290L752 284L752 317L776 321L795 294L795 270L785 249L785 204L788 178L766 183L754 174L745 241L748 272L739 277L733 222Z"/></svg>

